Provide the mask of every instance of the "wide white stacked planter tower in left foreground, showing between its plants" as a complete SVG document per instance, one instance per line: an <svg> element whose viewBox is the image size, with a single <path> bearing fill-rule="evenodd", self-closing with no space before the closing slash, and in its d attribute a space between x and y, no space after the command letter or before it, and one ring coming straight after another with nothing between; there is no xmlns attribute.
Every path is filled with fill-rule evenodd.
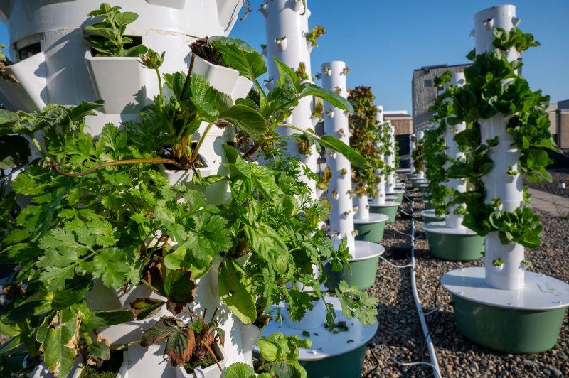
<svg viewBox="0 0 569 378"><path fill-rule="evenodd" d="M1 102L9 109L31 112L50 103L79 104L83 100L105 99L105 107L86 120L95 135L107 122L120 124L137 119L138 110L159 92L156 73L142 68L138 58L92 56L83 39L82 27L95 22L87 18L87 13L99 5L100 1L87 0L0 0L0 18L9 28L10 52L15 61L9 72L21 82L15 86L0 80ZM238 19L242 1L115 0L112 5L139 14L137 21L127 27L126 34L141 38L142 44L159 53L166 51L161 68L161 72L166 73L188 70L189 45L195 38L227 36ZM22 60L19 51L25 48L41 52ZM196 57L193 72L206 77L211 85L233 99L245 97L251 87L251 82L240 77L237 71L211 65L201 58ZM196 138L201 132L203 128L196 133ZM218 172L223 163L224 156L218 145L225 143L231 133L231 128L213 128L204 141L201 155L211 173ZM217 192L210 193L211 198L223 200L225 188L222 186ZM102 307L111 302L128 307L129 302L124 297L130 294L120 294L117 298L115 291L107 290L92 300ZM197 313L204 308L210 314L215 308L220 310L218 321L226 334L226 365L251 362L252 347L260 332L257 330L256 335L251 335L249 325L241 324L230 315L228 308L220 305L215 274L208 274L199 282L196 303L193 310ZM135 342L141 327L149 327L157 318L111 327L104 331L105 338L117 344L124 340ZM174 369L163 362L163 349L164 345L148 349L131 345L120 374L123 377L174 377Z"/></svg>

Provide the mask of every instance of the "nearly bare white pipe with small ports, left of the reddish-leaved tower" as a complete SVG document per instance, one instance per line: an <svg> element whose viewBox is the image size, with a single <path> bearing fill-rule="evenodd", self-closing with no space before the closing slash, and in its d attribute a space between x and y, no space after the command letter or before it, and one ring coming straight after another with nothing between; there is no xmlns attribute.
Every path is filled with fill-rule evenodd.
<svg viewBox="0 0 569 378"><path fill-rule="evenodd" d="M333 61L321 65L322 87L335 90L347 98L346 63ZM324 102L324 134L335 136L345 144L350 143L348 114ZM330 213L330 234L332 244L338 247L346 235L352 257L355 255L355 239L353 235L353 201L351 199L351 166L349 160L341 153L326 151L326 163L332 171L328 186L328 199L332 205Z"/></svg>

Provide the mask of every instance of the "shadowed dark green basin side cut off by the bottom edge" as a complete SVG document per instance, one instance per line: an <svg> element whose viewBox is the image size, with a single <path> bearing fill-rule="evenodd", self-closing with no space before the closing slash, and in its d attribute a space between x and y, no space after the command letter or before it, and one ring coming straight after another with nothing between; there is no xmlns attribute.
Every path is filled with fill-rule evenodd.
<svg viewBox="0 0 569 378"><path fill-rule="evenodd" d="M363 360L366 357L366 344L343 355L323 360L299 361L307 370L308 378L360 378Z"/></svg>

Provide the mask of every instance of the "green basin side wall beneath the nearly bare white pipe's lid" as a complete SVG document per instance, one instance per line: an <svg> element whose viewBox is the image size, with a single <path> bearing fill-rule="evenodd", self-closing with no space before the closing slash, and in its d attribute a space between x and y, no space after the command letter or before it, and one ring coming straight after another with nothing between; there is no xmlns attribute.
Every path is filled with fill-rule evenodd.
<svg viewBox="0 0 569 378"><path fill-rule="evenodd" d="M361 290L371 288L376 283L378 273L379 256L365 260L349 261L350 268L342 271L332 271L331 264L324 265L326 273L326 287L334 291L340 281L346 281L350 286L354 285Z"/></svg>

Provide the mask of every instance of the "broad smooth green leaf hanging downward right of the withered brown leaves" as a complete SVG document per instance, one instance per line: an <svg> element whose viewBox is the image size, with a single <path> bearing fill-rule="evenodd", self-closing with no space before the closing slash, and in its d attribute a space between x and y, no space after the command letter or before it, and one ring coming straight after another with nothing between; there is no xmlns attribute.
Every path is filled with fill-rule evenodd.
<svg viewBox="0 0 569 378"><path fill-rule="evenodd" d="M233 260L223 259L219 269L219 296L245 324L251 324L257 319L255 299L248 291L250 285L249 277L239 264Z"/></svg>

